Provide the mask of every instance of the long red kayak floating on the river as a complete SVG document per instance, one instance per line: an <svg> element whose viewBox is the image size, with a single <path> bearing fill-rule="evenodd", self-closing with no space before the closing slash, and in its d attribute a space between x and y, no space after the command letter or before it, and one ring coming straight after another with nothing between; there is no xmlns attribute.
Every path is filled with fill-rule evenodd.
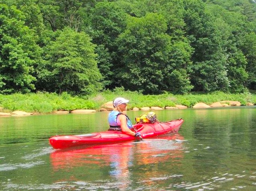
<svg viewBox="0 0 256 191"><path fill-rule="evenodd" d="M183 119L169 122L138 123L133 125L142 138L151 138L168 133L176 133L180 129ZM139 140L139 137L127 135L121 131L94 132L84 135L55 136L49 139L53 148L69 148L79 145L111 144L123 141Z"/></svg>

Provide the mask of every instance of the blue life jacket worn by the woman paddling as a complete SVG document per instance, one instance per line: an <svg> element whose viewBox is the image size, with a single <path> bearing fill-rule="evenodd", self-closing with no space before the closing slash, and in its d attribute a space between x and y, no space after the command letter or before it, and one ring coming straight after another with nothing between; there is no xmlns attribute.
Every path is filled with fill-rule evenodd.
<svg viewBox="0 0 256 191"><path fill-rule="evenodd" d="M108 123L109 123L109 127L111 130L111 128L115 128L115 130L117 131L121 131L121 126L117 123L117 117L118 115L125 115L126 116L126 122L127 122L127 126L129 129L132 129L132 122L129 119L129 117L126 114L123 114L121 112L115 111L113 110L112 112L109 113L108 115ZM113 130L112 130L113 131Z"/></svg>

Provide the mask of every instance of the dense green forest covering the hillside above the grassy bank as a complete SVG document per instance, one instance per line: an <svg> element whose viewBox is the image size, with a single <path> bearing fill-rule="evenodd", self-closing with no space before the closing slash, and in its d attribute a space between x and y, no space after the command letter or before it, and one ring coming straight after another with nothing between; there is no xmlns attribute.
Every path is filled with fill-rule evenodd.
<svg viewBox="0 0 256 191"><path fill-rule="evenodd" d="M0 0L0 93L256 90L253 0Z"/></svg>

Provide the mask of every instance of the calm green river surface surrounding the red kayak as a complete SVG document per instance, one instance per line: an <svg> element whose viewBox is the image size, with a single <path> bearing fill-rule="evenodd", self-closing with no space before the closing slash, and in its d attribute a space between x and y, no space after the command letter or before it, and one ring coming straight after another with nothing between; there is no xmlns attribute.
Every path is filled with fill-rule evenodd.
<svg viewBox="0 0 256 191"><path fill-rule="evenodd" d="M108 112L1 117L0 191L256 190L255 106L156 114L183 118L179 134L72 150L48 138L105 131Z"/></svg>

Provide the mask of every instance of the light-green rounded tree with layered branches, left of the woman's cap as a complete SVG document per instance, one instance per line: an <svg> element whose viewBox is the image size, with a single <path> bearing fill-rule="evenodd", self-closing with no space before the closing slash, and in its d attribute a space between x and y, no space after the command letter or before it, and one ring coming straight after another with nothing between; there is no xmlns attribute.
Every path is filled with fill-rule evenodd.
<svg viewBox="0 0 256 191"><path fill-rule="evenodd" d="M84 32L70 28L57 31L55 41L45 48L46 62L39 75L46 91L91 94L102 88L95 46Z"/></svg>

